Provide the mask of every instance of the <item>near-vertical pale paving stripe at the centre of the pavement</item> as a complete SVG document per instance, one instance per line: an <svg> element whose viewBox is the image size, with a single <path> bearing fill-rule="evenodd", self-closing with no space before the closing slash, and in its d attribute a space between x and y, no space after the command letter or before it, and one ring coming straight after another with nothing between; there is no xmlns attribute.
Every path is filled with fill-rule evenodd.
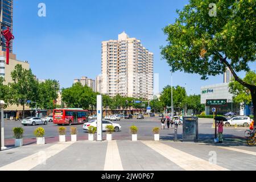
<svg viewBox="0 0 256 182"><path fill-rule="evenodd" d="M104 171L123 171L123 165L119 155L117 141L108 142Z"/></svg>

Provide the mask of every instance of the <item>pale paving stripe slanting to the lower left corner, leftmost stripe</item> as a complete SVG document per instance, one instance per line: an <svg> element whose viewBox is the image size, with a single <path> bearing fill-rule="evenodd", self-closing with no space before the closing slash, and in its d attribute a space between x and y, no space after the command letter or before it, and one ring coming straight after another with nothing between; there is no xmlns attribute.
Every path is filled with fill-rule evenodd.
<svg viewBox="0 0 256 182"><path fill-rule="evenodd" d="M73 142L54 144L51 147L36 152L36 154L32 154L30 156L27 156L26 158L0 167L0 171L29 171L30 169L38 165L46 164L47 159L63 151L65 148L71 146L71 144L73 144Z"/></svg>

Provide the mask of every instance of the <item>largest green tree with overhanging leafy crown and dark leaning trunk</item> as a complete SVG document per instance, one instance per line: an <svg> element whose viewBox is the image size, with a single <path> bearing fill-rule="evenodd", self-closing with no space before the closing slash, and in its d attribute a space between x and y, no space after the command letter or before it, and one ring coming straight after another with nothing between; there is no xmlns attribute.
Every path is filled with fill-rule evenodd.
<svg viewBox="0 0 256 182"><path fill-rule="evenodd" d="M217 16L209 15L210 3L216 4ZM228 67L235 80L250 90L256 107L256 85L237 75L250 71L249 63L255 62L255 7L256 1L249 0L190 0L177 10L175 23L164 28L168 44L162 47L163 59L172 72L198 73L204 80L223 74Z"/></svg>

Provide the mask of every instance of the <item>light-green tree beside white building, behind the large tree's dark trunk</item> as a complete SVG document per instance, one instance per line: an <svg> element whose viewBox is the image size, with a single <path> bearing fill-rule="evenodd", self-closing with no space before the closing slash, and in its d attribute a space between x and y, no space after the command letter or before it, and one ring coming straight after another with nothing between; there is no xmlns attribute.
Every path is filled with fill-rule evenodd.
<svg viewBox="0 0 256 182"><path fill-rule="evenodd" d="M244 82L248 82L250 84L256 85L256 73L255 72L247 72L245 78L243 78ZM238 81L232 81L229 84L229 92L234 94L233 101L240 104L251 104L251 92L250 89L241 85Z"/></svg>

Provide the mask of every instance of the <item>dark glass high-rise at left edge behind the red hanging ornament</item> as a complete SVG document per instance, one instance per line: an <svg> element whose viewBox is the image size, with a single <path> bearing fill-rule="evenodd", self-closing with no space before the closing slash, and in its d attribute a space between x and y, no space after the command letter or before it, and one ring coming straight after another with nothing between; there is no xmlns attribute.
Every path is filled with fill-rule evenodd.
<svg viewBox="0 0 256 182"><path fill-rule="evenodd" d="M13 33L13 0L0 0L0 22L1 31L6 30L9 27ZM3 28L2 28L3 27ZM1 35L1 51L6 51L5 37ZM13 41L10 43L10 52L13 52Z"/></svg>

